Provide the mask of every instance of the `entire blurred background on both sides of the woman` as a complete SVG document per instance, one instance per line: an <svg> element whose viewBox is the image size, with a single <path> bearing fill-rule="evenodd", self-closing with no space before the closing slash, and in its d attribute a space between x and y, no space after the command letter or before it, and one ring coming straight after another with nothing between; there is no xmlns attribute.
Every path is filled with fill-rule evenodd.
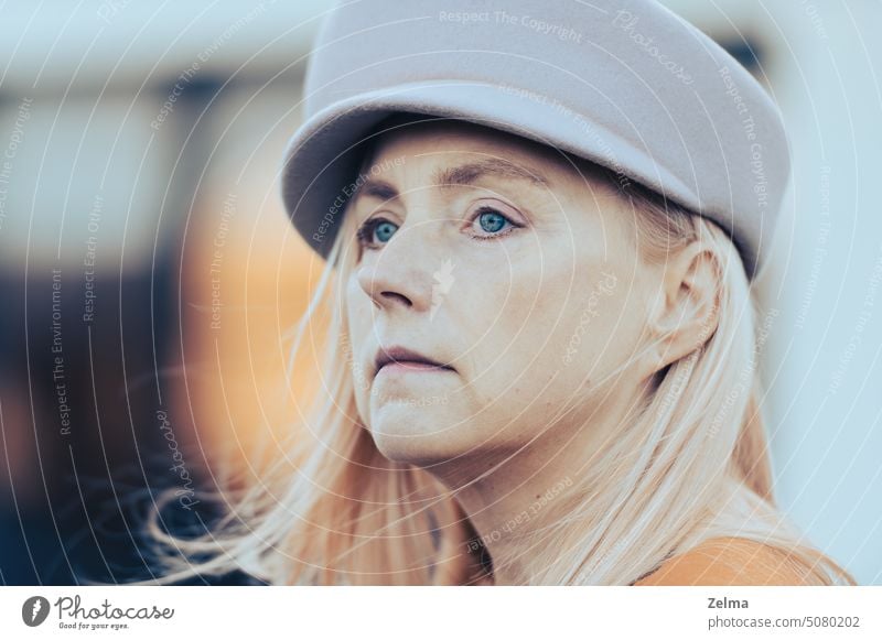
<svg viewBox="0 0 882 640"><path fill-rule="evenodd" d="M882 585L882 4L666 4L784 112L794 181L757 282L777 497ZM196 488L292 437L320 264L278 171L330 7L0 3L0 584L149 576L151 497L198 525Z"/></svg>

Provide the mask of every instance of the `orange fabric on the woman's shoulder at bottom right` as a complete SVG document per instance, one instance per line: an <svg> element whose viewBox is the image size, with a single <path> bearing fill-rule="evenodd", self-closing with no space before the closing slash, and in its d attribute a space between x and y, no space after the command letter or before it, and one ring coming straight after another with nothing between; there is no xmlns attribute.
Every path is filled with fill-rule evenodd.
<svg viewBox="0 0 882 640"><path fill-rule="evenodd" d="M804 586L798 565L777 547L744 538L714 538L676 555L635 586Z"/></svg>

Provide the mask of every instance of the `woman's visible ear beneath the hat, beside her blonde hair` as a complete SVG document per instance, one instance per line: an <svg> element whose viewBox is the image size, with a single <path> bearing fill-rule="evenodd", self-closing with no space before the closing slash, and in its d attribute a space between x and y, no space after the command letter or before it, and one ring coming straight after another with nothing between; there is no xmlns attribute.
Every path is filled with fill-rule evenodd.
<svg viewBox="0 0 882 640"><path fill-rule="evenodd" d="M720 263L700 240L664 264L662 291L649 310L653 369L647 373L676 362L710 339L720 319Z"/></svg>

